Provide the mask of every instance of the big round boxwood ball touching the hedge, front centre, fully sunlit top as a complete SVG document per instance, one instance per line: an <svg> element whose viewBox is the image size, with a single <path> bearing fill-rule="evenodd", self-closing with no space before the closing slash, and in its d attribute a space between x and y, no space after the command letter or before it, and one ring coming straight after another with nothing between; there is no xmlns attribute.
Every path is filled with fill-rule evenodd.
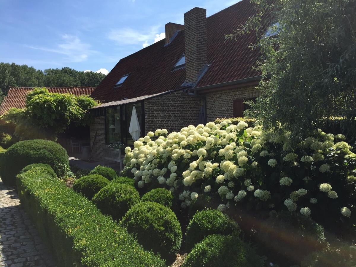
<svg viewBox="0 0 356 267"><path fill-rule="evenodd" d="M121 224L147 250L152 249L165 259L176 257L182 229L171 209L155 202L141 202L127 211Z"/></svg>

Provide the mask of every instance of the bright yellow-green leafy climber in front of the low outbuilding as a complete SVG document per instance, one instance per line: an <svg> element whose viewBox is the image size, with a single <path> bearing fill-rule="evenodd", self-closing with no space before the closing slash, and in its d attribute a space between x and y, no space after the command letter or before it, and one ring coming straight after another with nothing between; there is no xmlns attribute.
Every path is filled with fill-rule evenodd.
<svg viewBox="0 0 356 267"><path fill-rule="evenodd" d="M11 108L3 116L5 121L16 125L14 134L22 140L54 139L70 123L87 125L88 109L98 104L89 96L49 93L46 88L35 88L28 93L25 103L25 108Z"/></svg>

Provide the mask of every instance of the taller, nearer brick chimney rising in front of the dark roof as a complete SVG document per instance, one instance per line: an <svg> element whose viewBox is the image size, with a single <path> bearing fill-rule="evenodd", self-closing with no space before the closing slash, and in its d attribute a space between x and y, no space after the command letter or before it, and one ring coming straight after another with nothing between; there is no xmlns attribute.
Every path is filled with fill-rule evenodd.
<svg viewBox="0 0 356 267"><path fill-rule="evenodd" d="M196 83L206 66L206 9L194 7L184 14L185 81Z"/></svg>

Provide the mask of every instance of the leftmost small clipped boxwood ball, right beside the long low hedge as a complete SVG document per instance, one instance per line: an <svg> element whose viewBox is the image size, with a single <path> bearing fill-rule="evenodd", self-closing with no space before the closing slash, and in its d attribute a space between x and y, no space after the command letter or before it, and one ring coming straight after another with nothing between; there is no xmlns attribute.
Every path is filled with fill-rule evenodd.
<svg viewBox="0 0 356 267"><path fill-rule="evenodd" d="M92 199L101 188L109 183L110 181L108 179L99 174L89 174L75 180L73 183L73 190Z"/></svg>

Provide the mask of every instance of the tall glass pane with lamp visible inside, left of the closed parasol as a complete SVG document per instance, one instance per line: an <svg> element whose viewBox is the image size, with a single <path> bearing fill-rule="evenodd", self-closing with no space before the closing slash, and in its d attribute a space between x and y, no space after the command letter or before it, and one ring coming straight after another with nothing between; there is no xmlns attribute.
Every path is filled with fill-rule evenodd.
<svg viewBox="0 0 356 267"><path fill-rule="evenodd" d="M121 142L120 106L106 108L106 143Z"/></svg>

